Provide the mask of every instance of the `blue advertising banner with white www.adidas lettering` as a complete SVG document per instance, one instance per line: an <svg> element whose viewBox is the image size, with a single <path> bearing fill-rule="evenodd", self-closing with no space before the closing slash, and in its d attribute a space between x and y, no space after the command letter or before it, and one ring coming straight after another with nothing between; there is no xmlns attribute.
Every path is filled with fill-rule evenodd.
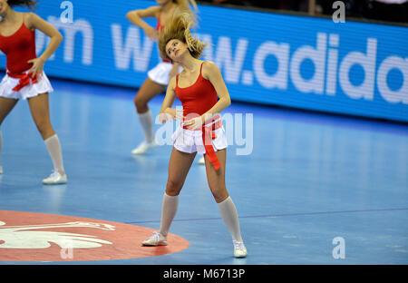
<svg viewBox="0 0 408 283"><path fill-rule="evenodd" d="M159 52L125 15L151 5L40 1L35 13L63 34L45 72L140 87ZM217 63L235 101L408 122L407 27L199 5L194 34L210 44L203 59ZM36 33L38 54L47 40Z"/></svg>

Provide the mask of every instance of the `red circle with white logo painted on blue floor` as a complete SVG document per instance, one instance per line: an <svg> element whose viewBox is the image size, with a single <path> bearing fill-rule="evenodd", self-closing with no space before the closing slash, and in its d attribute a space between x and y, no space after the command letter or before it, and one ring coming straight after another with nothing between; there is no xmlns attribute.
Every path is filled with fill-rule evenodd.
<svg viewBox="0 0 408 283"><path fill-rule="evenodd" d="M0 210L0 261L86 261L155 257L189 247L169 234L168 246L143 247L154 229L106 220Z"/></svg>

